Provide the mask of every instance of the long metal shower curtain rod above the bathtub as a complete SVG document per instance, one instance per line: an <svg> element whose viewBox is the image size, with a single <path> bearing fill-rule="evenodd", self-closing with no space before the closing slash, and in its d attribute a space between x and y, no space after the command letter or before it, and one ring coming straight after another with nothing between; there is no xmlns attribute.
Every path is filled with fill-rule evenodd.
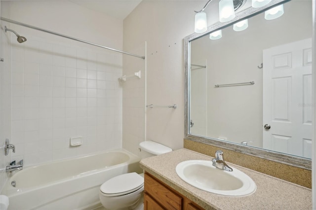
<svg viewBox="0 0 316 210"><path fill-rule="evenodd" d="M90 45L93 45L93 46L105 48L105 49L116 51L116 52L123 53L123 54L126 54L126 55L131 55L131 56L134 56L134 57L137 57L137 58L145 59L145 56L140 56L140 55L124 52L124 51L121 51L121 50L117 50L117 49L114 49L114 48L102 46L100 44L95 44L95 43L92 43L92 42L89 42L89 41L85 41L85 40L82 40L82 39L79 39L79 38L75 38L75 37L72 37L72 36L58 34L56 32L52 32L52 31L48 31L48 30L45 30L45 29L41 29L41 28L38 28L38 27L35 27L35 26L31 26L31 25L28 25L28 24L25 24L25 23L21 23L21 22L17 22L17 21L14 21L14 20L10 20L10 19L4 18L4 17L0 17L0 19L5 21L5 22L9 22L9 23L13 23L13 24L16 24L16 25L24 26L24 27L27 27L27 28L30 28L30 29L35 29L35 30L38 30L38 31L41 31L41 32L46 32L46 33L52 34L52 35L62 36L64 38L69 38L69 39L72 39L72 40L75 40L75 41L80 41L80 42L83 42L83 43L86 43L86 44L90 44Z"/></svg>

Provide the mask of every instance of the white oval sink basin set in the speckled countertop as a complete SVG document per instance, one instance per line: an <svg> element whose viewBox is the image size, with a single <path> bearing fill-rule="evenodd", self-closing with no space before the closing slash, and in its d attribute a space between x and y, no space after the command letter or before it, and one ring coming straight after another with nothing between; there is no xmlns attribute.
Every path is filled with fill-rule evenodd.
<svg viewBox="0 0 316 210"><path fill-rule="evenodd" d="M212 161L188 160L176 167L177 175L192 186L219 195L247 196L256 191L255 182L243 172L232 172L212 166Z"/></svg>

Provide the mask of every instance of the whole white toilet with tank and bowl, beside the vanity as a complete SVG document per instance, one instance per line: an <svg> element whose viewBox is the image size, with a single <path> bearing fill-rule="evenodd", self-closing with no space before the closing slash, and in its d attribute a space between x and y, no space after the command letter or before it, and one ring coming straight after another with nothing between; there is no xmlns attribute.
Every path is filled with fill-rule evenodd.
<svg viewBox="0 0 316 210"><path fill-rule="evenodd" d="M141 157L146 158L171 152L172 149L155 141L139 144ZM101 204L107 210L143 209L144 174L135 172L115 176L100 186Z"/></svg>

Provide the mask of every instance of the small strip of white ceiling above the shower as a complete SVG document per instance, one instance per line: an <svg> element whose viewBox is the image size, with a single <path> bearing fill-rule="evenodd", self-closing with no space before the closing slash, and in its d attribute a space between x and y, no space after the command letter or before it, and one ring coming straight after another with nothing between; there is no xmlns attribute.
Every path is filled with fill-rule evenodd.
<svg viewBox="0 0 316 210"><path fill-rule="evenodd" d="M88 9L123 20L142 0L70 0Z"/></svg>

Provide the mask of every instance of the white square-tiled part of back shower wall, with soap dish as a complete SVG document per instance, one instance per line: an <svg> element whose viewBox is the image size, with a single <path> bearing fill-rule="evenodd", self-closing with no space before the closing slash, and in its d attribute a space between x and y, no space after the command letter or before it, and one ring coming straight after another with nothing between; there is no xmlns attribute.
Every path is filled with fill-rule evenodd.
<svg viewBox="0 0 316 210"><path fill-rule="evenodd" d="M27 38L12 38L12 159L34 165L121 147L122 55Z"/></svg>

